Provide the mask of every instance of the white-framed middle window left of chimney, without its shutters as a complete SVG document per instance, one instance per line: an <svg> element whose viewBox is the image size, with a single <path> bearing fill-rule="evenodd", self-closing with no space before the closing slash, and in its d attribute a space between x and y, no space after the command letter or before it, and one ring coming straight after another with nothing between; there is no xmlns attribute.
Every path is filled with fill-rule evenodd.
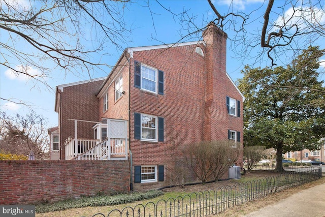
<svg viewBox="0 0 325 217"><path fill-rule="evenodd" d="M157 141L157 117L141 114L141 140Z"/></svg>

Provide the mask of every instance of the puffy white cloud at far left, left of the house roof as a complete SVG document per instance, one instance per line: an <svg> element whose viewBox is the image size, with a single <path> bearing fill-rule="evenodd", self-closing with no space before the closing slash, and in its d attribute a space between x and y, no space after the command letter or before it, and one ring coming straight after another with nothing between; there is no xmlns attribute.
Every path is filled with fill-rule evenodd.
<svg viewBox="0 0 325 217"><path fill-rule="evenodd" d="M31 76L42 77L42 73L32 67L16 66L15 70L21 73L17 73L12 69L8 69L5 71L5 75L11 80L17 79L20 81L27 81L31 78ZM30 76L28 76L27 74Z"/></svg>

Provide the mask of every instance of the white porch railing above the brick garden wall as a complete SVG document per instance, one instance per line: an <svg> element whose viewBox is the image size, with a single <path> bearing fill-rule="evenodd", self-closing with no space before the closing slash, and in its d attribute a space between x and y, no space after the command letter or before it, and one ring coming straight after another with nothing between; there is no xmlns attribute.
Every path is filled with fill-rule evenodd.
<svg viewBox="0 0 325 217"><path fill-rule="evenodd" d="M109 146L110 148L108 148ZM97 139L78 139L76 146L75 140L69 138L66 141L66 160L127 159L126 147L126 139L110 139L101 143Z"/></svg>

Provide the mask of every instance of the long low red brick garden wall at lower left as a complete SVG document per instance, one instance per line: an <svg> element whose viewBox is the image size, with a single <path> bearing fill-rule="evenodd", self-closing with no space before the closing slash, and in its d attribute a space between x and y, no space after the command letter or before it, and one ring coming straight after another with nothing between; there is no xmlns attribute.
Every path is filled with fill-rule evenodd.
<svg viewBox="0 0 325 217"><path fill-rule="evenodd" d="M128 161L0 161L0 205L126 192Z"/></svg>

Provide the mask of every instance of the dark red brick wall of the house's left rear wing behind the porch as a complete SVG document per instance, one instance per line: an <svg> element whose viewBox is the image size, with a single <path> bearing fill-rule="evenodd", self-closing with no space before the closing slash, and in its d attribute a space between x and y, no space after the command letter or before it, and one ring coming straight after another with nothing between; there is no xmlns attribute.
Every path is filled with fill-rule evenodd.
<svg viewBox="0 0 325 217"><path fill-rule="evenodd" d="M69 136L74 137L74 121L69 119L80 119L99 121L99 100L95 94L99 90L101 81L93 81L83 84L67 86L61 93L61 123L60 145L61 159L65 159L64 141ZM92 139L92 126L94 123L78 121L78 138Z"/></svg>

